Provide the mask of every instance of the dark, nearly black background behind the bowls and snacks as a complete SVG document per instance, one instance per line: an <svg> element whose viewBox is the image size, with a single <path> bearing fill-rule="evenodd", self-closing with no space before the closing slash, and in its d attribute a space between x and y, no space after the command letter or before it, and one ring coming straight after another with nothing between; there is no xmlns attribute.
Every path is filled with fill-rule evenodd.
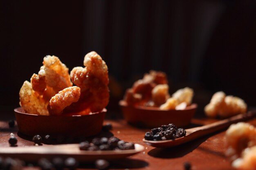
<svg viewBox="0 0 256 170"><path fill-rule="evenodd" d="M0 114L45 55L71 71L90 51L109 68L110 114L150 69L167 73L171 94L193 88L198 114L216 91L256 105L255 0L1 0L0 19Z"/></svg>

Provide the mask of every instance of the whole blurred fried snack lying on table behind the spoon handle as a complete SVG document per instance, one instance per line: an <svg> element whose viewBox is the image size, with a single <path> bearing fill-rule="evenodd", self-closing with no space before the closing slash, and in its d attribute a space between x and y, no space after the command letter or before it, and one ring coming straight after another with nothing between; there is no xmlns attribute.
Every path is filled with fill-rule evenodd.
<svg viewBox="0 0 256 170"><path fill-rule="evenodd" d="M227 118L240 113L246 113L247 104L243 99L234 96L226 96L222 91L216 92L209 104L204 107L208 117Z"/></svg>

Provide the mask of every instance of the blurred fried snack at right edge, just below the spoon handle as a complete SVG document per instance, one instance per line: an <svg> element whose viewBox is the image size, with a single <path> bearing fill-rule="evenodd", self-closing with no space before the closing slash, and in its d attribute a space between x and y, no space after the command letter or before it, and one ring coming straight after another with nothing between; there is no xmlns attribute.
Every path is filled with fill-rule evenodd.
<svg viewBox="0 0 256 170"><path fill-rule="evenodd" d="M245 148L256 145L256 128L244 122L232 124L226 131L226 141L226 155L234 161Z"/></svg>

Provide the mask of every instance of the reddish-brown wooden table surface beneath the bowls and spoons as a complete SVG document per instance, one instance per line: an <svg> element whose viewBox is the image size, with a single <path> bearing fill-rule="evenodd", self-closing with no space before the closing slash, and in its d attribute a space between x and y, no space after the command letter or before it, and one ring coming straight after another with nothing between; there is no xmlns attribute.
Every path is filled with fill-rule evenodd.
<svg viewBox="0 0 256 170"><path fill-rule="evenodd" d="M201 137L187 144L174 148L154 148L142 141L145 132L149 129L139 129L126 123L124 120L106 120L112 123L110 131L115 137L124 141L141 144L145 147L144 152L127 157L126 159L111 161L110 169L130 170L183 170L183 163L189 161L192 170L228 170L232 169L230 161L225 157L225 130ZM208 124L209 120L193 119L197 124ZM256 125L256 119L249 121ZM9 128L7 121L0 121L0 149L10 147L8 139L10 133L18 138L19 146L33 146L32 141L22 139L17 135L17 126ZM40 146L43 147L43 146ZM80 163L81 169L94 169L94 165ZM29 168L29 169L36 169Z"/></svg>

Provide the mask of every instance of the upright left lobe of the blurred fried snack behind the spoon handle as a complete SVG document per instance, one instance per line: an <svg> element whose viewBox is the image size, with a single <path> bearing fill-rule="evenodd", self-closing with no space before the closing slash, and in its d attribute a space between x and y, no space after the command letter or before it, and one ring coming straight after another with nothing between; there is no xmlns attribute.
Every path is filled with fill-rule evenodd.
<svg viewBox="0 0 256 170"><path fill-rule="evenodd" d="M223 91L214 93L209 104L204 107L204 112L208 117L216 117L221 107L225 105L226 94Z"/></svg>

